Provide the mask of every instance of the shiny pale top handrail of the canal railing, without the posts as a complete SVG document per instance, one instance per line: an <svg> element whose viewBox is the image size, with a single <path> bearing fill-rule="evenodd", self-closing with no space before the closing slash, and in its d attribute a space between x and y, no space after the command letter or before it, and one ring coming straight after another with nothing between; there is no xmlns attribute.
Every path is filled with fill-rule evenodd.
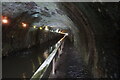
<svg viewBox="0 0 120 80"><path fill-rule="evenodd" d="M52 51L52 53L48 56L48 58L43 62L43 64L37 69L37 71L33 74L30 80L36 80L41 79L46 72L47 68L49 67L50 63L54 59L60 45L62 44L63 40L65 39L67 35L64 35L63 38L61 38L55 45L56 48Z"/></svg>

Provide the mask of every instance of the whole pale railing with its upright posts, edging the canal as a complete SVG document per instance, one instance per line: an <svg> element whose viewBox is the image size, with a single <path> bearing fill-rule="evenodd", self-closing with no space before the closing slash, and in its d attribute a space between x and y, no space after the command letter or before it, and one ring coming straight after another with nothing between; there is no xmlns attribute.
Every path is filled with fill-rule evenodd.
<svg viewBox="0 0 120 80"><path fill-rule="evenodd" d="M54 49L47 57L47 59L43 62L43 64L37 69L37 71L33 74L30 80L40 80L43 78L43 75L47 71L50 64L52 65L52 74L55 74L55 63L56 59L60 58L62 53L62 48L64 45L64 40L68 34L65 34L63 38L61 38L54 46ZM58 52L58 54L57 54Z"/></svg>

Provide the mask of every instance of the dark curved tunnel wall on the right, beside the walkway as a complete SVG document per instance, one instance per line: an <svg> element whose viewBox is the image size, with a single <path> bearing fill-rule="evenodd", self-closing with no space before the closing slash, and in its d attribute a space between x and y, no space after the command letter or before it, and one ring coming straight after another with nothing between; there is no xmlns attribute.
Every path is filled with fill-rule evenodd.
<svg viewBox="0 0 120 80"><path fill-rule="evenodd" d="M118 78L119 3L62 3L62 5L79 30L80 44L77 46L93 76Z"/></svg>

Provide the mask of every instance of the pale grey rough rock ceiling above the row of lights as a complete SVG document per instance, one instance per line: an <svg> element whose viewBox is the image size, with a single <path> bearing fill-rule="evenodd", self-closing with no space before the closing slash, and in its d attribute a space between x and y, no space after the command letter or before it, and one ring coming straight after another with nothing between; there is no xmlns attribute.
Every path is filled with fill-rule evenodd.
<svg viewBox="0 0 120 80"><path fill-rule="evenodd" d="M28 21L31 25L38 27L48 25L60 29L69 28L70 21L68 17L57 7L56 3L3 2L2 5L3 16L8 16L12 19L20 16L23 17L23 21Z"/></svg>

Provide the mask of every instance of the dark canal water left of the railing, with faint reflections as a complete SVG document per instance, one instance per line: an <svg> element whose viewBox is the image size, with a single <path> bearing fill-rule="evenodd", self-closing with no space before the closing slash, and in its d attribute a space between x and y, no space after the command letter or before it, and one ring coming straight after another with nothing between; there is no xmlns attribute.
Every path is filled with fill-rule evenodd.
<svg viewBox="0 0 120 80"><path fill-rule="evenodd" d="M2 60L3 78L30 78L54 49L57 37L41 45L11 53Z"/></svg>

